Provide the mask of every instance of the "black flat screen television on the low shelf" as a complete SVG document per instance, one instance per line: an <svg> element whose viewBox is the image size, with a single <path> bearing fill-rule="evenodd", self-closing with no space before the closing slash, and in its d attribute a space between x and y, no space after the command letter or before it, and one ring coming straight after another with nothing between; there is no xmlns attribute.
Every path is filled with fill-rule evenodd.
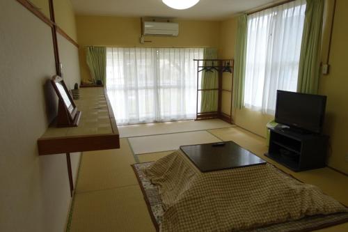
<svg viewBox="0 0 348 232"><path fill-rule="evenodd" d="M326 96L277 91L276 123L320 133L324 124Z"/></svg>

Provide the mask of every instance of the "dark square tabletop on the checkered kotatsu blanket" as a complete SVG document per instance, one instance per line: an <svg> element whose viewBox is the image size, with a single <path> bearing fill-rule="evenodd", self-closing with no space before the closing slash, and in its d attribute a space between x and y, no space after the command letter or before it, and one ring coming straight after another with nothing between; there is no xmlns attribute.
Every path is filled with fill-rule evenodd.
<svg viewBox="0 0 348 232"><path fill-rule="evenodd" d="M266 164L266 161L232 141L180 146L180 149L202 172Z"/></svg>

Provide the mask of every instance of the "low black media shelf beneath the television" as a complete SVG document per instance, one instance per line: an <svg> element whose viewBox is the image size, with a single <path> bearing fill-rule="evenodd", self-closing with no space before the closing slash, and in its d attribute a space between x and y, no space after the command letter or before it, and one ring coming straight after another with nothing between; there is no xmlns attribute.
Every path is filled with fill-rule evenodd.
<svg viewBox="0 0 348 232"><path fill-rule="evenodd" d="M269 151L264 154L292 171L325 167L329 137L269 128Z"/></svg>

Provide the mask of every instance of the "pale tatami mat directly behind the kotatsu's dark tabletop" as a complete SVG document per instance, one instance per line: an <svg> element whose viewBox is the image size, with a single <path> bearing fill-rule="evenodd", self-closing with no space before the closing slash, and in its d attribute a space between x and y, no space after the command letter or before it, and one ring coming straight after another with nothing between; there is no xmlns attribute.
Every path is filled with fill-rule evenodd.
<svg viewBox="0 0 348 232"><path fill-rule="evenodd" d="M129 138L134 154L177 150L183 145L207 144L218 141L221 140L205 130Z"/></svg>

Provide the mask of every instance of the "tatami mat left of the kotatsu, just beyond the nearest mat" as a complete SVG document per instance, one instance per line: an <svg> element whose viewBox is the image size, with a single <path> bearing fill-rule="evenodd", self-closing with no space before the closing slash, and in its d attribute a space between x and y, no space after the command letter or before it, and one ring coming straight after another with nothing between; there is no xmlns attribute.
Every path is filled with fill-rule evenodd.
<svg viewBox="0 0 348 232"><path fill-rule="evenodd" d="M134 163L127 139L120 139L120 149L84 152L75 191L80 193L137 185L130 166Z"/></svg>

